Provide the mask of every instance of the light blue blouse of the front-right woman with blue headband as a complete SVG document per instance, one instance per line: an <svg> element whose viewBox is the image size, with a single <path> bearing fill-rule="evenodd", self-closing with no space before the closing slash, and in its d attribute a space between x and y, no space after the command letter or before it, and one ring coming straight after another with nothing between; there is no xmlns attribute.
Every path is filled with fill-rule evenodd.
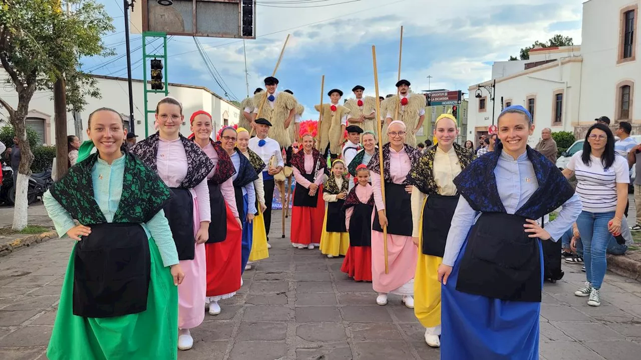
<svg viewBox="0 0 641 360"><path fill-rule="evenodd" d="M532 162L528 154L524 152L516 160L506 152L501 152L499 161L494 168L496 186L499 190L499 197L508 214L514 214L521 208L538 188L537 177L535 176ZM488 179L479 179L488 181ZM552 241L557 241L563 233L572 226L581 213L581 200L576 193L564 204L556 219L545 224L545 230L552 236ZM476 223L480 213L474 211L465 198L458 199L456 211L452 218L451 227L447 234L445 254L443 263L454 266L454 261L463 246L472 225ZM538 220L540 219L532 219Z"/></svg>

